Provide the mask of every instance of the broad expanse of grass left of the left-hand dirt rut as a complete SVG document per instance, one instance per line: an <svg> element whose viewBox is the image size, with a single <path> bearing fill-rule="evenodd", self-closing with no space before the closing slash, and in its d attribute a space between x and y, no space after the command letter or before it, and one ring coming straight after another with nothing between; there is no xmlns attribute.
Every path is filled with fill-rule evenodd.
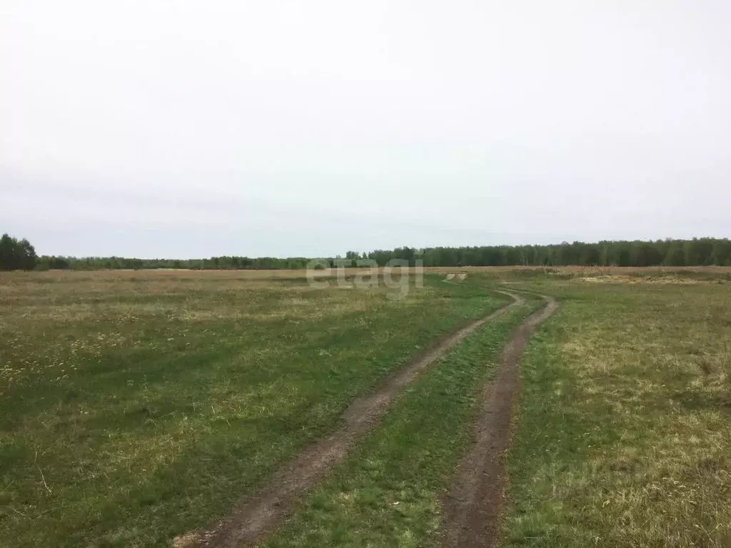
<svg viewBox="0 0 731 548"><path fill-rule="evenodd" d="M0 544L166 545L503 298L249 273L0 278ZM507 299L507 297L505 297Z"/></svg>

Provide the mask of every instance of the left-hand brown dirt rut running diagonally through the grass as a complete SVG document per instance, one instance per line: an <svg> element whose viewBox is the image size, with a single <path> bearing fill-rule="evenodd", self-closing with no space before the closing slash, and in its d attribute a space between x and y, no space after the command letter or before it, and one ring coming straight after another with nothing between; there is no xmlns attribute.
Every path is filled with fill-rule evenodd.
<svg viewBox="0 0 731 548"><path fill-rule="evenodd" d="M374 392L357 397L342 415L343 424L334 433L315 441L281 465L267 484L240 501L224 520L210 530L194 531L176 537L173 540L175 548L234 548L252 546L261 541L268 532L292 514L307 490L317 484L333 466L344 460L355 442L376 425L390 403L421 371L482 325L525 302L518 294L496 291L508 295L513 302L442 338L431 349L387 377Z"/></svg>

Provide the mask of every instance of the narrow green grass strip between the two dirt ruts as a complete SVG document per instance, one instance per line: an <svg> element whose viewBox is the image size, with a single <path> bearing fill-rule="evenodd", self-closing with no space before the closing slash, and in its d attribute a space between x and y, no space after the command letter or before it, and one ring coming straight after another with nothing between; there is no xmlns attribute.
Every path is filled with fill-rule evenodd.
<svg viewBox="0 0 731 548"><path fill-rule="evenodd" d="M422 373L265 546L438 544L439 499L469 444L480 389L512 327L536 307L529 301L485 324Z"/></svg>

